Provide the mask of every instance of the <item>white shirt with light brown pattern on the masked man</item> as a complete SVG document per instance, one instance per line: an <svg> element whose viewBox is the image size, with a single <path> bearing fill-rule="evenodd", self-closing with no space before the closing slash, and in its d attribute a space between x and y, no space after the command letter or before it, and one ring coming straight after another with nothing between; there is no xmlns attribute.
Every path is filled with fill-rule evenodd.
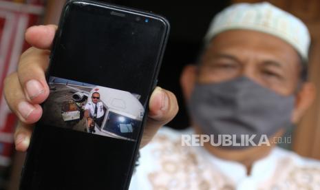
<svg viewBox="0 0 320 190"><path fill-rule="evenodd" d="M257 160L250 176L239 162L222 160L204 147L187 147L182 134L162 127L140 150L130 189L320 189L320 162L275 147Z"/></svg>

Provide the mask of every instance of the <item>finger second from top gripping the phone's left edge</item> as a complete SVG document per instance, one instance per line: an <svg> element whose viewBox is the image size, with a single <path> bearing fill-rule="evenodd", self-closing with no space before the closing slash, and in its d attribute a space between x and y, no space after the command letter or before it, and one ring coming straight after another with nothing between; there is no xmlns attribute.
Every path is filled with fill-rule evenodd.
<svg viewBox="0 0 320 190"><path fill-rule="evenodd" d="M43 103L50 89L45 80L45 70L49 65L48 50L30 47L20 58L18 76L25 98L33 104Z"/></svg>

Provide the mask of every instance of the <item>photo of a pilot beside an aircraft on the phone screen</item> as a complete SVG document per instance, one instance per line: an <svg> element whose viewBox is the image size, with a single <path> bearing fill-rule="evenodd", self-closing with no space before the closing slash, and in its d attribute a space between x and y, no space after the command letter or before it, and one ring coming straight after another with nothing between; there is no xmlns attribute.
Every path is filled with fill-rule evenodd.
<svg viewBox="0 0 320 190"><path fill-rule="evenodd" d="M136 140L145 113L140 94L50 76L41 123Z"/></svg>

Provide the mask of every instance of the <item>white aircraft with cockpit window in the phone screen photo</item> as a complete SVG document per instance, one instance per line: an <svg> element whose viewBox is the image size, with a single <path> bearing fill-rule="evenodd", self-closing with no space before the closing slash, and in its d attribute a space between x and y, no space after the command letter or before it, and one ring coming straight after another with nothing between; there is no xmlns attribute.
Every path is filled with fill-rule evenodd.
<svg viewBox="0 0 320 190"><path fill-rule="evenodd" d="M90 92L71 85L66 86L75 91L72 95L75 102L81 102L87 98L87 103L90 103L94 92L100 94L100 101L105 107L105 115L101 126L95 123L96 134L135 140L135 136L138 135L138 127L145 114L145 108L139 101L140 95L100 86L93 87Z"/></svg>

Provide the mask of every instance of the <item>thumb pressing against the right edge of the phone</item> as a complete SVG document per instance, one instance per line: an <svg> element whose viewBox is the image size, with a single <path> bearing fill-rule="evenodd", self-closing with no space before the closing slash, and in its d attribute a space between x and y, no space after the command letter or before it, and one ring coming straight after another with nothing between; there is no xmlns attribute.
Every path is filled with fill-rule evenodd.
<svg viewBox="0 0 320 190"><path fill-rule="evenodd" d="M158 129L178 113L177 98L172 92L156 87L150 97L149 114L140 147L147 145Z"/></svg>

